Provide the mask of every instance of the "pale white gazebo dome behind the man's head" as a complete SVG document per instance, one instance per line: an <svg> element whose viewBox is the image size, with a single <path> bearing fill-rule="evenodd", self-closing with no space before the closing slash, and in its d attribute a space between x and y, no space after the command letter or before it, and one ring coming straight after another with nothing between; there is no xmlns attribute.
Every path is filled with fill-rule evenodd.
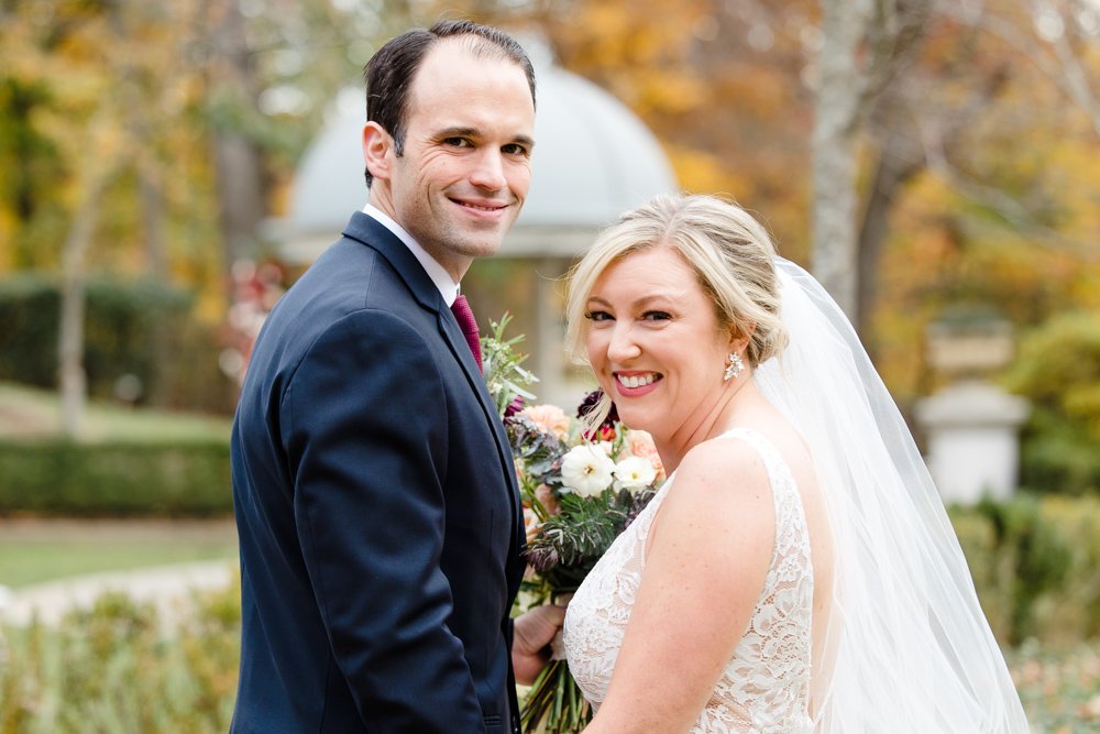
<svg viewBox="0 0 1100 734"><path fill-rule="evenodd" d="M672 166L645 124L591 81L532 48L537 111L531 188L501 256L572 258L619 213L678 188ZM268 235L289 261L311 262L367 198L360 145L361 89L340 94L295 175L288 215Z"/></svg>

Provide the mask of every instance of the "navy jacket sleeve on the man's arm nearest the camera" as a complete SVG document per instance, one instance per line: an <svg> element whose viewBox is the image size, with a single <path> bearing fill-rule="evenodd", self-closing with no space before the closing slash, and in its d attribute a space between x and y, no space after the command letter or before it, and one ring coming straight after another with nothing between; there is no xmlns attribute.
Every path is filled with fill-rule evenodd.
<svg viewBox="0 0 1100 734"><path fill-rule="evenodd" d="M372 731L483 728L462 642L447 626L439 369L411 326L358 311L310 348L283 401L310 582Z"/></svg>

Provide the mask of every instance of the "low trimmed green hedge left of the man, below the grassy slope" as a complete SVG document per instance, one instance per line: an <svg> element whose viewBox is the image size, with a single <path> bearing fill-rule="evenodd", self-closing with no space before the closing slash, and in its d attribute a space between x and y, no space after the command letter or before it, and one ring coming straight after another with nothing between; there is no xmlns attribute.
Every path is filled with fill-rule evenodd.
<svg viewBox="0 0 1100 734"><path fill-rule="evenodd" d="M0 515L209 517L232 512L223 440L0 442Z"/></svg>

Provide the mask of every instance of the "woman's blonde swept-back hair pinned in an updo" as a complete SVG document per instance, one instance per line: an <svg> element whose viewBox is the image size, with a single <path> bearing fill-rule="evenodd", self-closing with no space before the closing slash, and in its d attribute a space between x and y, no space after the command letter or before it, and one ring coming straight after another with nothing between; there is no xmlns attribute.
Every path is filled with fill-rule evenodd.
<svg viewBox="0 0 1100 734"><path fill-rule="evenodd" d="M627 255L660 247L680 252L695 271L718 322L737 336L749 336L749 364L756 368L783 350L787 329L779 317L776 245L765 228L730 201L662 194L601 232L570 273L565 344L574 363L588 362L584 314L600 275ZM608 404L598 406L596 414L606 415L609 402L604 402Z"/></svg>

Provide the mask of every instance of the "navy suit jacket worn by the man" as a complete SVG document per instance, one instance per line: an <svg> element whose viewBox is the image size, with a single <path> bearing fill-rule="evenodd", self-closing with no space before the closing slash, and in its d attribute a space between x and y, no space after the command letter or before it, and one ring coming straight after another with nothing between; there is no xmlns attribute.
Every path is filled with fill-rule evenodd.
<svg viewBox="0 0 1100 734"><path fill-rule="evenodd" d="M232 732L518 732L512 453L439 291L373 218L268 316L232 468Z"/></svg>

